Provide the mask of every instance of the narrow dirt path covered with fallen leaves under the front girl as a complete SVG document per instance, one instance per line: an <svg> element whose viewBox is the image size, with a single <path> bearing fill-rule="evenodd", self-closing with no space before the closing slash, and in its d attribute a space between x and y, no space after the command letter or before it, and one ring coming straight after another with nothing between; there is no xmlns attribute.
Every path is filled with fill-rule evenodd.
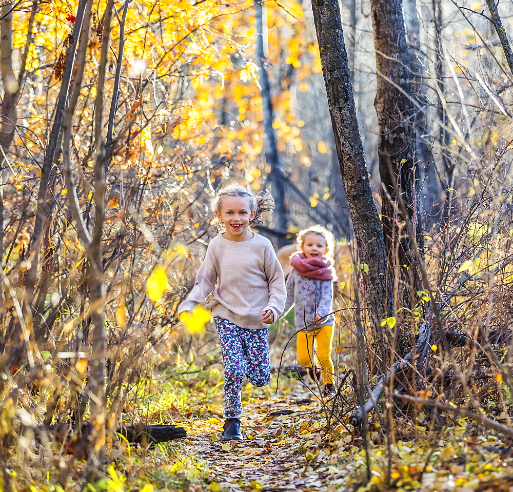
<svg viewBox="0 0 513 492"><path fill-rule="evenodd" d="M330 490L333 480L325 451L311 451L321 441L321 404L301 382L286 379L277 393L245 390L242 442L221 440L222 419L199 420L183 445L209 470L209 490ZM279 415L282 414L282 415ZM338 482L338 483L335 483ZM333 487L333 488L332 488ZM195 490L195 489L194 489Z"/></svg>

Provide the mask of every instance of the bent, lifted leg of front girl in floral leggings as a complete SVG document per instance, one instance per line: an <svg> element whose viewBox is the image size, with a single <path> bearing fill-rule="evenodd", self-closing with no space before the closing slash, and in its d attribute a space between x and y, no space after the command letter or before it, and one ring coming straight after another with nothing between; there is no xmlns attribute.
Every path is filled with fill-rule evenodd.
<svg viewBox="0 0 513 492"><path fill-rule="evenodd" d="M241 330L246 356L246 375L253 386L265 386L271 379L269 330Z"/></svg>

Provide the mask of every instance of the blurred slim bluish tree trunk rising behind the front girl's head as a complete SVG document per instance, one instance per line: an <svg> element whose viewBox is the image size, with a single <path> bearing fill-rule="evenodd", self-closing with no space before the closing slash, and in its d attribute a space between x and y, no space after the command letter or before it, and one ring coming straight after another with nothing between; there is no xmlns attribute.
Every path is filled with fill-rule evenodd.
<svg viewBox="0 0 513 492"><path fill-rule="evenodd" d="M278 145L272 123L274 121L274 111L272 108L271 85L267 74L267 60L264 50L264 7L262 0L255 1L255 11L257 13L257 65L259 66L259 81L262 88L262 111L264 116L265 131L265 160L270 167L269 180L272 184L272 196L275 202L273 215L278 230L287 231L288 218L287 207L285 204L285 180L281 168L280 155L278 154ZM279 246L285 246L287 240L284 236L278 236Z"/></svg>

